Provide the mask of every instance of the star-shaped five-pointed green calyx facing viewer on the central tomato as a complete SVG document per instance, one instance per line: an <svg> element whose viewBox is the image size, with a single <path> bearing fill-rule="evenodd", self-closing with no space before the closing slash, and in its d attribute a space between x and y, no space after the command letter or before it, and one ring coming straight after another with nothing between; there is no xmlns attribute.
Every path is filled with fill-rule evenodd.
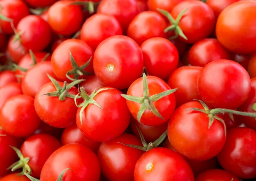
<svg viewBox="0 0 256 181"><path fill-rule="evenodd" d="M130 96L130 95L126 95L126 94L121 94L121 96L126 98L128 101L133 101L135 103L141 104L141 107L139 108L139 112L137 114L137 121L139 123L140 123L141 116L146 111L146 109L152 111L155 114L155 116L164 120L164 118L158 112L157 108L155 107L155 105L153 103L155 101L159 100L160 98L163 98L165 96L168 96L169 94L172 94L173 92L175 92L177 90L177 88L166 90L159 94L149 96L148 81L147 81L145 73L143 73L142 78L143 78L143 97Z"/></svg>

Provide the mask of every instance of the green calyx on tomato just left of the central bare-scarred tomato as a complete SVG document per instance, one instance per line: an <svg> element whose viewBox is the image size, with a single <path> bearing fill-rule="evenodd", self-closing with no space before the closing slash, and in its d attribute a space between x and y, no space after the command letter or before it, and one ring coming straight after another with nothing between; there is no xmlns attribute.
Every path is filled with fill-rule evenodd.
<svg viewBox="0 0 256 181"><path fill-rule="evenodd" d="M84 65L82 65L81 67L79 67L77 65L76 60L74 59L74 57L71 54L71 52L70 52L70 60L71 60L71 64L72 64L73 69L68 71L67 74L66 74L66 77L69 80L75 81L75 80L77 80L79 78L79 76L82 76L82 75L92 75L92 73L86 72L85 70L83 70L86 67L88 67L88 65L90 64L90 62L92 60L92 57L90 57L90 59ZM74 78L71 78L70 75L74 75Z"/></svg>

